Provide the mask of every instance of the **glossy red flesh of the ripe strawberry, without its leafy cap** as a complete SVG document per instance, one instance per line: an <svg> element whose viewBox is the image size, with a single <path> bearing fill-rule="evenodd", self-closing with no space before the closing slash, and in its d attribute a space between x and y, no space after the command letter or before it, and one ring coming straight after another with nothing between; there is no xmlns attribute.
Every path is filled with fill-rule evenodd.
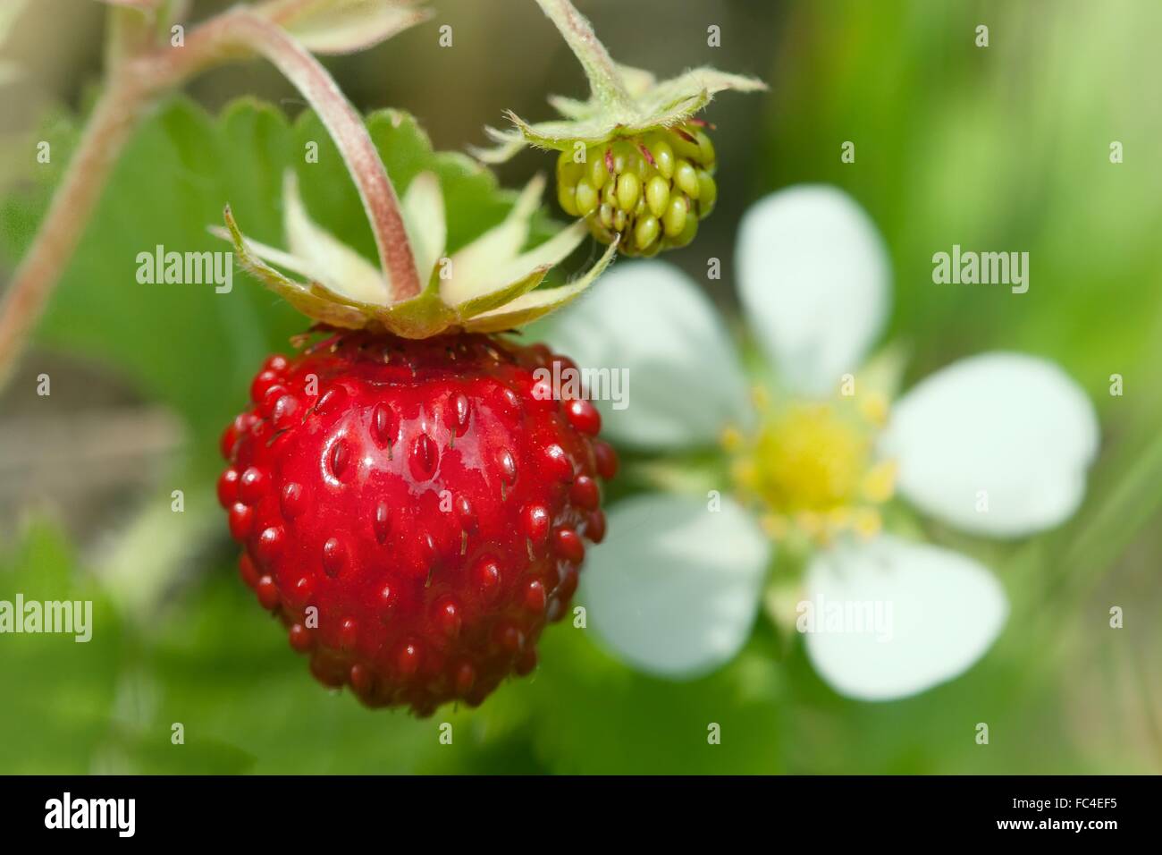
<svg viewBox="0 0 1162 855"><path fill-rule="evenodd" d="M324 685L430 714L536 664L605 520L617 458L544 345L335 332L272 356L222 436L242 576ZM317 620L315 619L317 618Z"/></svg>

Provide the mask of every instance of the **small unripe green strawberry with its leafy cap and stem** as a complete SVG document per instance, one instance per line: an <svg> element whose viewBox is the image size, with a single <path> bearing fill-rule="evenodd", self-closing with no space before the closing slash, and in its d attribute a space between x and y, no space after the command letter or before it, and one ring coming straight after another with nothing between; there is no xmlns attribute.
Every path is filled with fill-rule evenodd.
<svg viewBox="0 0 1162 855"><path fill-rule="evenodd" d="M569 0L538 2L580 60L589 98L551 97L561 117L547 122L509 111L515 128L485 128L496 144L474 149L475 156L503 163L528 145L560 151L558 201L598 241L631 256L684 247L718 197L711 126L697 113L718 92L755 92L766 84L705 65L659 81L614 62Z"/></svg>

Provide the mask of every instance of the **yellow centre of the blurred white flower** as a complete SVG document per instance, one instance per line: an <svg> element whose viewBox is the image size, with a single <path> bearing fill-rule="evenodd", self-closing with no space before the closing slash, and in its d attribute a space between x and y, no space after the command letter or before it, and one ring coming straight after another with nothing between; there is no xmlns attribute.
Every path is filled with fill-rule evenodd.
<svg viewBox="0 0 1162 855"><path fill-rule="evenodd" d="M727 430L734 478L745 499L763 507L776 539L796 530L816 542L842 532L871 536L878 506L891 498L896 466L877 461L875 428L887 418L878 396L862 400L791 401L772 409L756 396L761 426L751 437Z"/></svg>

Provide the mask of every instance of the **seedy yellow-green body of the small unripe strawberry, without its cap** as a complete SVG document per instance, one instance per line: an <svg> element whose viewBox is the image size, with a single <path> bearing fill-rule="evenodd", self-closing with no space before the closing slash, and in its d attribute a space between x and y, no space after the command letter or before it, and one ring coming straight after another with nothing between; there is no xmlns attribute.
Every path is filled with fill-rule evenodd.
<svg viewBox="0 0 1162 855"><path fill-rule="evenodd" d="M557 200L602 243L652 256L694 240L718 198L715 148L700 120L561 151Z"/></svg>

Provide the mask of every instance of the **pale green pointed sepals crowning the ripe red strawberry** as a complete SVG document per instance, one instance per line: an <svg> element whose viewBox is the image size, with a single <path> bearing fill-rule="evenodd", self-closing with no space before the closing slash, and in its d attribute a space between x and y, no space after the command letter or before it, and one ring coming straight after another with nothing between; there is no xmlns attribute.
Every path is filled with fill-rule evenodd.
<svg viewBox="0 0 1162 855"><path fill-rule="evenodd" d="M503 222L445 255L444 197L432 172L413 179L402 211L416 268L425 283L415 297L392 301L386 271L316 225L299 194L297 180L284 180L284 229L289 251L248 238L229 207L225 229L242 266L309 318L344 329L386 332L425 339L444 332L492 333L512 329L560 308L581 294L612 261L615 247L581 277L536 290L548 271L584 238L583 223L568 226L544 243L522 251L544 179L525 186ZM281 270L297 275L292 278Z"/></svg>

